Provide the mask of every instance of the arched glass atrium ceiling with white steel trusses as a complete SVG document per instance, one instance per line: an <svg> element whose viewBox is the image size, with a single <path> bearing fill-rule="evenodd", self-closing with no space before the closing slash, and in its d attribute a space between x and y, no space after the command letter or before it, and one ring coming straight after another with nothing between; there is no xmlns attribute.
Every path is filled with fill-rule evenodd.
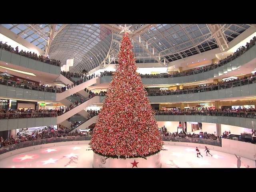
<svg viewBox="0 0 256 192"><path fill-rule="evenodd" d="M74 58L72 72L117 62L120 24L2 24L46 51L50 58ZM122 24L123 25L123 24ZM172 62L220 47L210 24L126 24L137 63ZM229 43L251 24L216 24ZM52 36L51 36L52 34ZM49 39L51 42L49 43ZM50 46L49 46L50 45ZM49 47L49 48L48 48Z"/></svg>

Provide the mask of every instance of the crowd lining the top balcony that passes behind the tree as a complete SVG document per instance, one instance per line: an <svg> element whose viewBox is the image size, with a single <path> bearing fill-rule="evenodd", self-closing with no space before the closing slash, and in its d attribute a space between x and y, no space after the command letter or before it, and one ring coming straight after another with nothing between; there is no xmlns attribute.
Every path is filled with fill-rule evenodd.
<svg viewBox="0 0 256 192"><path fill-rule="evenodd" d="M140 74L142 78L173 78L173 77L180 77L180 76L188 76L193 74L199 74L202 72L213 70L217 67L223 66L224 64L227 64L228 62L238 58L240 55L244 54L247 50L249 50L252 46L255 45L256 37L254 36L252 40L250 40L250 43L247 42L246 46L242 46L239 48L234 54L230 54L230 56L221 59L219 62L212 63L207 66L193 68L190 70L182 71L182 72L174 72L172 74L162 73L162 74ZM100 76L113 76L114 72L102 72Z"/></svg>

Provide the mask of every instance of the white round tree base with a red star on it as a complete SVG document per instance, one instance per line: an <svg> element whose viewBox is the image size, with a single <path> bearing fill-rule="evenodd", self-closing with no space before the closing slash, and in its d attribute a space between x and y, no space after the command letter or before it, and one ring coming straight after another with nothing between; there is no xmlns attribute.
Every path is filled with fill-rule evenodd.
<svg viewBox="0 0 256 192"><path fill-rule="evenodd" d="M106 158L93 153L93 168L161 168L160 152L144 158ZM134 162L135 161L135 162Z"/></svg>

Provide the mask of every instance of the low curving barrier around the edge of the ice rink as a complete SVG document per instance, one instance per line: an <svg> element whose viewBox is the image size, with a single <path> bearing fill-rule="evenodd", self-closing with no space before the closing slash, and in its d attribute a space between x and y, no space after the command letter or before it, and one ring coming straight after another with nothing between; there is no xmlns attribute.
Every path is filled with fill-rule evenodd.
<svg viewBox="0 0 256 192"><path fill-rule="evenodd" d="M47 138L33 141L21 142L18 144L12 144L8 146L4 146L0 148L0 154L10 152L12 150L36 146L47 143L55 143L55 142L67 142L67 141L83 141L83 140L91 140L91 136L70 136L70 137L58 137L58 138ZM180 137L169 137L163 136L163 141L173 141L173 142L191 142L191 143L199 143L199 144L207 144L221 147L221 141L217 140L209 140L209 139L198 139L198 138L180 138Z"/></svg>

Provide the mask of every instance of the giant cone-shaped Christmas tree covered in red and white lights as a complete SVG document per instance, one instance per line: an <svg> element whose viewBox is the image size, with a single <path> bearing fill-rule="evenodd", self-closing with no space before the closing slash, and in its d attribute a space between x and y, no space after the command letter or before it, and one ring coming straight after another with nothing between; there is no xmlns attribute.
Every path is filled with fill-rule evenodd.
<svg viewBox="0 0 256 192"><path fill-rule="evenodd" d="M98 115L90 146L112 158L151 156L162 149L154 113L135 64L132 43L124 29L116 72Z"/></svg>

